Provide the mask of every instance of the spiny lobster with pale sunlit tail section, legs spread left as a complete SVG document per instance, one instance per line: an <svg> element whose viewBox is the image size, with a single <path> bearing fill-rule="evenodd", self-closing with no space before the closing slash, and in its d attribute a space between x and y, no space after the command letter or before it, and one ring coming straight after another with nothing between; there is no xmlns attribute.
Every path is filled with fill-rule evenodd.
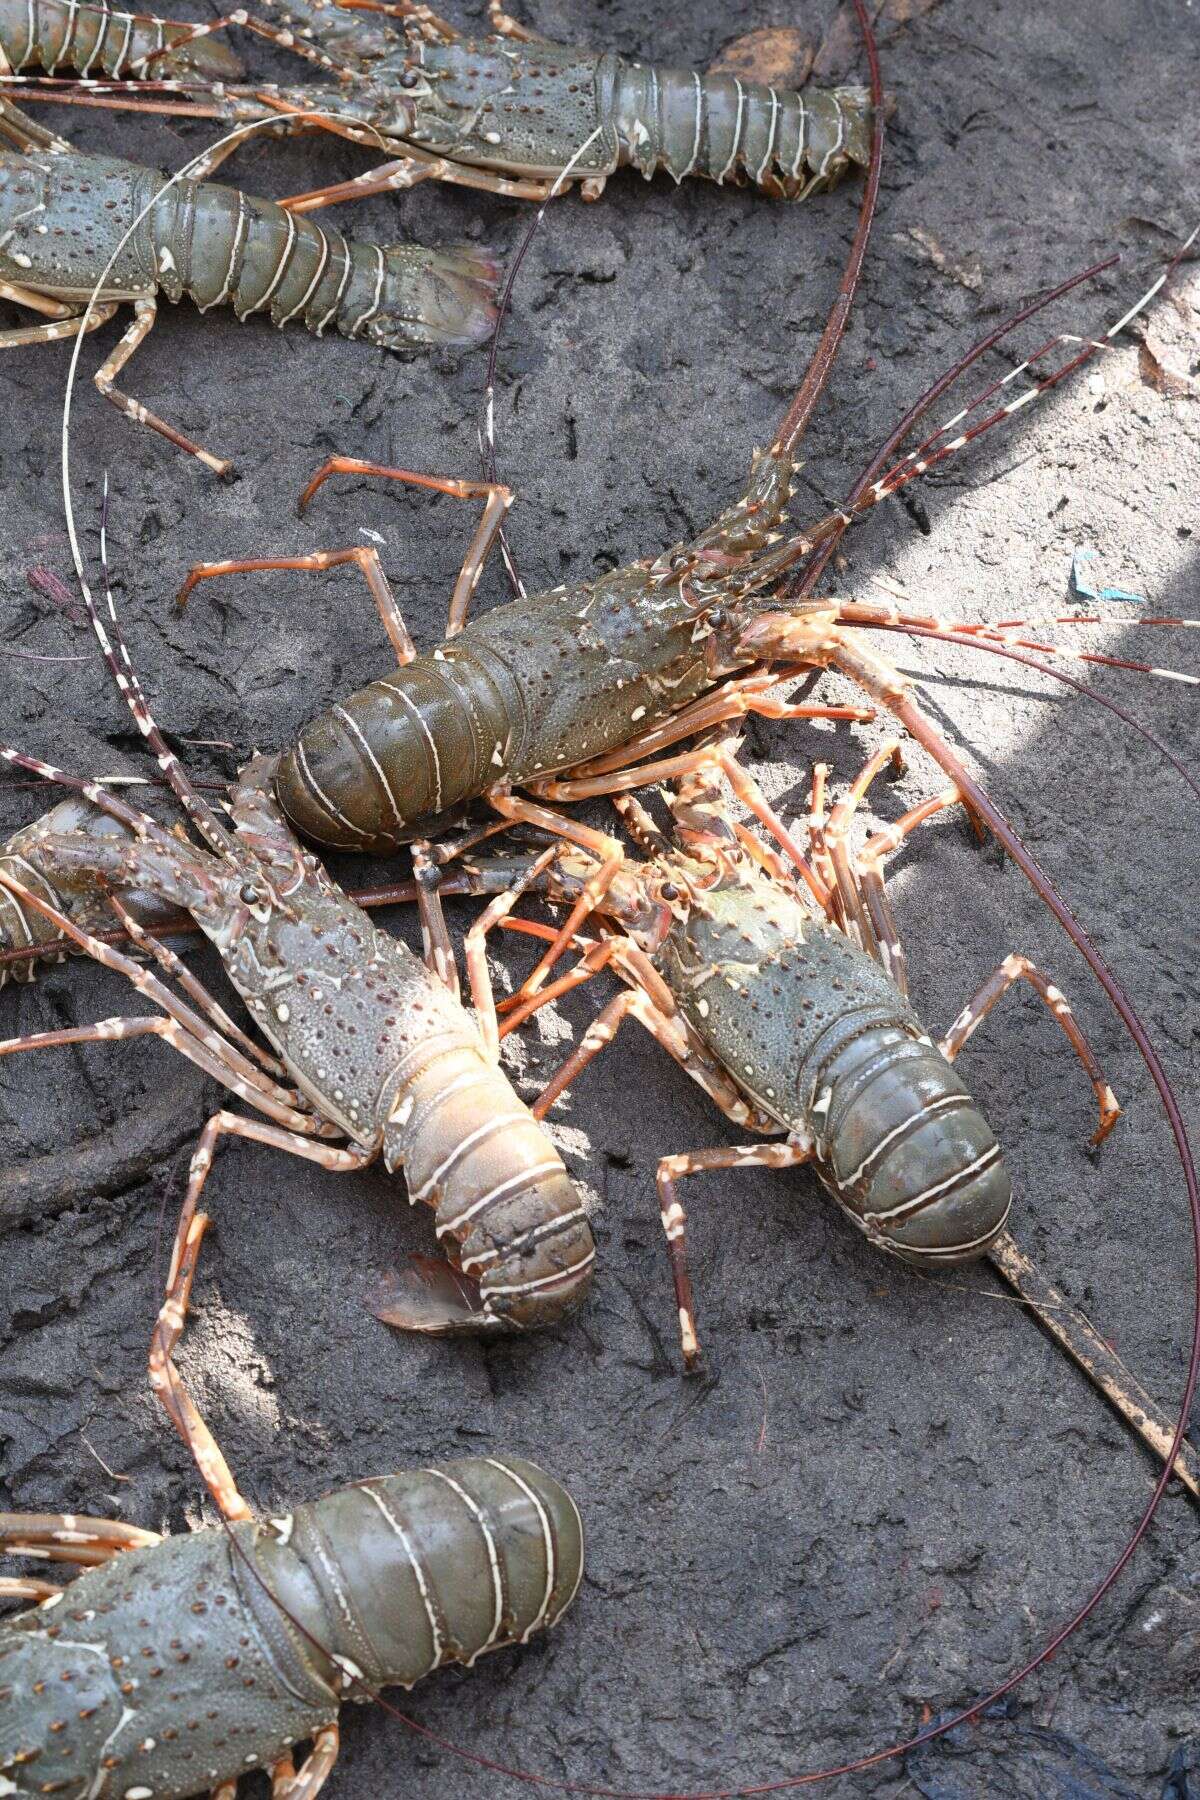
<svg viewBox="0 0 1200 1800"><path fill-rule="evenodd" d="M410 1199L437 1208L437 1235L457 1247L464 1271L453 1309L430 1318L425 1328L520 1328L561 1318L590 1283L596 1247L561 1157L498 1067L484 954L489 922L480 922L468 945L480 1035L457 999L435 882L421 886L423 965L403 943L378 932L295 842L270 792L270 760L257 758L243 770L230 799L230 830L191 787L162 740L115 612L112 632L121 657L90 594L88 607L139 729L210 850L182 842L95 783L65 778L4 747L0 756L9 763L65 781L130 833L124 839L88 830L43 832L25 844L25 864L52 891L108 882L189 913L219 950L277 1057L257 1049L175 954L137 927L119 898L113 898L117 916L137 931L144 950L184 979L194 1006L180 1004L148 970L88 936L58 911L41 884L31 884L23 869L14 875L11 862L0 862L0 887L97 961L126 974L162 1013L16 1039L0 1046L0 1055L157 1035L273 1121L218 1112L205 1127L176 1242L176 1289L191 1280L184 1265L203 1233L196 1206L214 1147L223 1136L239 1136L331 1170L363 1168L380 1154L389 1170L403 1165ZM158 1346L157 1354L162 1384L166 1352Z"/></svg>

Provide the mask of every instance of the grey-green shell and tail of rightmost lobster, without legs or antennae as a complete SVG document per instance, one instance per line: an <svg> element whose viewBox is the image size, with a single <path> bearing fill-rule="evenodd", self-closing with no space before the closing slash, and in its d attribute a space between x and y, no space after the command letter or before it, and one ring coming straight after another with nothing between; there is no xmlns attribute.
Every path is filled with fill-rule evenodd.
<svg viewBox="0 0 1200 1800"><path fill-rule="evenodd" d="M991 1127L887 972L837 925L739 860L714 886L689 884L655 961L714 1060L811 1143L822 1184L874 1244L963 1262L1000 1235L1011 1183Z"/></svg>

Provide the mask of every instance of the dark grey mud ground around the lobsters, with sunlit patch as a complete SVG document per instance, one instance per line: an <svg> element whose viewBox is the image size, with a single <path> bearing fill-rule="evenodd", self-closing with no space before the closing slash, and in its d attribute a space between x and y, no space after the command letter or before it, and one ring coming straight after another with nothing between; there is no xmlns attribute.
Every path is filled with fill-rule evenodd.
<svg viewBox="0 0 1200 1800"><path fill-rule="evenodd" d="M547 36L696 65L734 34L792 23L779 0L736 13L711 0L536 0L531 16ZM820 5L801 25L815 40L829 18ZM1200 211L1198 32L1186 0L945 0L882 25L896 112L880 211L808 439L797 518L835 502L909 401L1024 297L1123 252L1115 272L1025 328L1016 342L1029 349L1052 329L1112 322L1142 292ZM257 47L248 56L270 67ZM95 112L45 117L85 148L121 146L164 167L212 135ZM246 149L227 178L284 194L362 166L351 146L313 139ZM518 283L497 403L502 472L520 495L511 540L531 581L655 551L736 491L802 374L856 205L853 184L790 209L624 175L597 205L551 209ZM340 218L362 238L470 239L504 254L525 221L516 203L434 187ZM1200 304L1195 268L1182 277ZM1193 371L1195 317L1160 302L1151 320L1173 364ZM88 340L85 376L115 333ZM295 495L333 450L475 475L484 362L399 362L167 306L126 385L236 457L241 479L228 488L81 382L79 515L95 522L108 464L124 621L158 718L178 740L234 745L187 751L196 774L227 776L250 749L282 745L389 657L345 571L207 583L180 616L173 596L189 565L378 533L414 635L430 643L473 509L340 481L300 522ZM1000 355L984 364L988 378L1007 365ZM0 362L0 605L7 641L86 653L90 639L27 581L32 563L68 580L65 374L61 346ZM869 598L883 574L925 610L1047 616L1070 610L1070 553L1087 545L1105 583L1146 594L1153 612L1195 614L1198 436L1200 405L1146 385L1126 337L923 488L930 536L898 502L856 529L837 590ZM479 603L504 592L493 560ZM1130 608L1106 610L1117 625L1070 643L1087 635L1196 668L1187 634L1139 634L1124 625ZM1027 670L945 644L874 644L919 671L950 743L1124 981L1195 1125L1195 796L1110 715ZM1195 760L1189 689L1094 673ZM140 767L95 659L9 661L4 682L5 738L70 769ZM838 680L822 691L849 697ZM747 756L793 815L813 756L846 779L885 725L754 724ZM892 819L939 785L912 754L901 781L876 783L865 819ZM5 787L0 828L50 797ZM963 1067L1011 1161L1018 1240L1171 1408L1191 1235L1144 1066L1024 878L981 853L961 815L910 841L891 891L932 1028L1009 950L1049 968L1076 1006L1126 1109L1103 1152L1087 1148L1088 1085L1025 990ZM450 905L461 927L468 909ZM412 940L410 918L396 929ZM502 986L525 959L520 941L498 943ZM212 958L196 954L194 967L221 985ZM578 1037L590 992L509 1039L522 1093L533 1096ZM72 963L7 988L0 1035L137 1010L119 979ZM0 1064L5 1507L171 1530L210 1517L144 1368L189 1147L218 1103L194 1069L149 1044ZM549 1775L738 1787L905 1737L925 1708L975 1697L1038 1647L1115 1555L1153 1471L991 1274L927 1278L880 1258L804 1174L696 1179L684 1199L707 1375L684 1381L653 1170L667 1150L729 1141L727 1125L630 1026L556 1109L554 1132L594 1208L599 1271L576 1319L520 1343L405 1341L367 1316L369 1278L432 1247L430 1213L410 1211L383 1170L335 1177L237 1145L221 1150L205 1193L216 1229L182 1366L257 1507L497 1445L543 1462L579 1499L588 1575L560 1631L421 1687L408 1699L416 1717ZM1133 1793L1157 1796L1196 1732L1198 1575L1196 1514L1173 1492L1112 1597L1024 1688L1016 1717L1052 1721ZM246 1791L264 1793L255 1782ZM907 1787L889 1762L824 1791ZM358 1708L329 1784L331 1796L381 1800L509 1791ZM1027 1791L1016 1773L1013 1791Z"/></svg>

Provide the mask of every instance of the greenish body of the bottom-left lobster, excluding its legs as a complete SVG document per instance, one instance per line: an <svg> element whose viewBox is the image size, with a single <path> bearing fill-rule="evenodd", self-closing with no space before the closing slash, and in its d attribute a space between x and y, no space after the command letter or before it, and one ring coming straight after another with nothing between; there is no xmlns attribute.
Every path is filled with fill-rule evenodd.
<svg viewBox="0 0 1200 1800"><path fill-rule="evenodd" d="M0 1624L0 1793L184 1800L576 1597L563 1487L470 1458L119 1553Z"/></svg>

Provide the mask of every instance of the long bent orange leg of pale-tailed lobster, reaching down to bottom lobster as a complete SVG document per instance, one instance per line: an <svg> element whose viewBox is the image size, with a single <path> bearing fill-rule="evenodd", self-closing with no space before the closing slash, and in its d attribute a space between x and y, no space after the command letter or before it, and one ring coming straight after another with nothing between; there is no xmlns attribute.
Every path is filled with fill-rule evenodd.
<svg viewBox="0 0 1200 1800"><path fill-rule="evenodd" d="M281 1130L277 1125L266 1125L263 1120L246 1120L236 1112L221 1111L212 1114L193 1154L187 1174L187 1195L175 1233L167 1291L149 1345L149 1386L193 1453L196 1467L225 1517L250 1519L254 1514L237 1492L230 1467L175 1366L175 1348L187 1323L187 1301L196 1278L200 1244L210 1224L209 1215L196 1208L203 1184L209 1179L209 1170L212 1168L212 1154L218 1139L223 1136L248 1138L252 1143L266 1143L277 1150L290 1150L291 1156L308 1157L311 1163L320 1163L322 1168L336 1172L365 1168L374 1159L376 1150L362 1150L358 1147L338 1150L335 1145L313 1143L309 1138L300 1138L299 1132Z"/></svg>

